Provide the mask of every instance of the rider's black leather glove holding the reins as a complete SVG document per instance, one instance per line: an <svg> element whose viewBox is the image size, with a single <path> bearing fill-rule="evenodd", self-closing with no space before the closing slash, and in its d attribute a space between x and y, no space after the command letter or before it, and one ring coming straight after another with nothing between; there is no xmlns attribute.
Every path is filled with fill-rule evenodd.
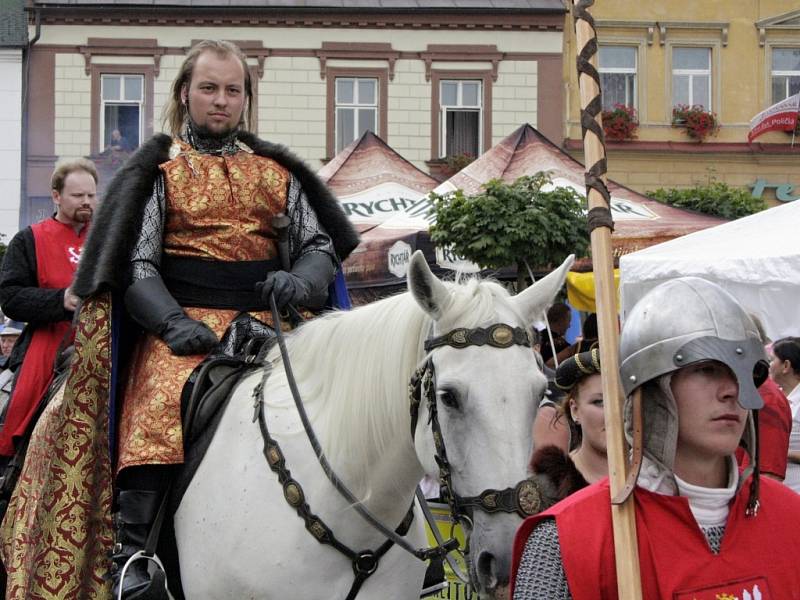
<svg viewBox="0 0 800 600"><path fill-rule="evenodd" d="M320 308L335 274L336 268L330 256L323 252L310 252L301 256L290 272L270 273L265 281L256 284L256 291L266 306L269 306L269 295L275 294L278 310L287 304Z"/></svg>

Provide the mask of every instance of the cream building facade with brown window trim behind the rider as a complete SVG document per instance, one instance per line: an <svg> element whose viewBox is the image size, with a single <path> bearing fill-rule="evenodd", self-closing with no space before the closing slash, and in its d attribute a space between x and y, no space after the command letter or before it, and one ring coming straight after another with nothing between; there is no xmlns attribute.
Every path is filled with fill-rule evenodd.
<svg viewBox="0 0 800 600"><path fill-rule="evenodd" d="M292 0L28 3L39 36L24 157L29 221L49 210L46 180L57 160L90 156L108 173L161 130L183 56L205 38L240 45L255 81L257 133L312 166L366 129L433 173L523 123L556 142L563 131L560 0L357 9Z"/></svg>

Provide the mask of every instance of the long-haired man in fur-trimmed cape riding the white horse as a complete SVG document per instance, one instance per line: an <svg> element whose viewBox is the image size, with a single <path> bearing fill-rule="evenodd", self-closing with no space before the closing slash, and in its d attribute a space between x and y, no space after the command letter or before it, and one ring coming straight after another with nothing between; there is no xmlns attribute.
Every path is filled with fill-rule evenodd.
<svg viewBox="0 0 800 600"><path fill-rule="evenodd" d="M271 294L279 308L321 306L337 265L358 243L335 198L314 173L283 147L247 132L252 125L250 77L245 56L233 44L204 41L192 48L166 108L172 137L154 136L117 173L73 287L88 299L79 324L84 350L101 344L105 334L106 339L119 339L117 330L124 330L126 319L93 331L85 318L92 314L92 323L104 322L112 314L112 301L115 316L124 303L126 315L138 325L132 351L124 343L111 346L120 351L111 355L107 390L94 390L94 396L107 391L112 402L122 398L117 400L116 461L97 457L101 471L116 473L115 598L120 586L123 598L163 597L163 574L151 581L146 561L131 563L123 581L119 574L145 546L174 465L183 462L181 390L187 377L218 346L234 319L245 319L248 328L271 327L271 316L264 312ZM281 213L288 217L288 244L282 248L288 256L280 256L273 225ZM290 266L284 270L281 265L287 261ZM78 349L78 363L93 358ZM126 380L119 370L123 364ZM79 368L73 367L73 375ZM77 397L81 385L77 375L72 377L65 400ZM82 397L85 401L87 396ZM108 398L94 402L102 406ZM114 426L108 431L113 437ZM97 433L102 438L102 431ZM92 447L101 455L98 448L108 446L95 441ZM61 467L53 471L56 479L68 478ZM107 487L110 482L101 477L100 483ZM81 490L90 493L95 491ZM61 502L60 507L68 506L68 501ZM99 527L103 534L102 523ZM44 543L62 554L76 553L60 544L66 537L63 530L44 537ZM36 580L46 574L20 572L25 561L18 560L35 550L25 547L30 542L19 531L8 544L16 544L10 578L27 580L15 588L18 595L9 597L38 597L31 590L44 585ZM102 590L106 584L98 581L99 560L84 561L88 576L71 579L82 578ZM83 594L94 597L85 590Z"/></svg>

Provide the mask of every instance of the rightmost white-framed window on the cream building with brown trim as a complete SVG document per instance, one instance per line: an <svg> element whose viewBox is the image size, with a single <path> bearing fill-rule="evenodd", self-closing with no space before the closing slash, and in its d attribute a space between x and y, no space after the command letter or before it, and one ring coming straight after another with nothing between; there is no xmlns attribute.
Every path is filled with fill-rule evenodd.
<svg viewBox="0 0 800 600"><path fill-rule="evenodd" d="M483 130L482 81L439 82L439 156L479 156Z"/></svg>

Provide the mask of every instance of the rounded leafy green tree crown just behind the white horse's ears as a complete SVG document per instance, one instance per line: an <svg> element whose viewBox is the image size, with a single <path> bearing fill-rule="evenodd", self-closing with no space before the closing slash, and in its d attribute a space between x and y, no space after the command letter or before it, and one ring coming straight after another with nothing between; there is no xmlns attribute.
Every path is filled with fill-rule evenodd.
<svg viewBox="0 0 800 600"><path fill-rule="evenodd" d="M483 192L465 196L457 190L432 194L436 223L431 239L484 268L524 264L551 268L569 254L585 255L589 234L585 202L572 188L556 187L546 173L520 177L514 183L493 179Z"/></svg>

